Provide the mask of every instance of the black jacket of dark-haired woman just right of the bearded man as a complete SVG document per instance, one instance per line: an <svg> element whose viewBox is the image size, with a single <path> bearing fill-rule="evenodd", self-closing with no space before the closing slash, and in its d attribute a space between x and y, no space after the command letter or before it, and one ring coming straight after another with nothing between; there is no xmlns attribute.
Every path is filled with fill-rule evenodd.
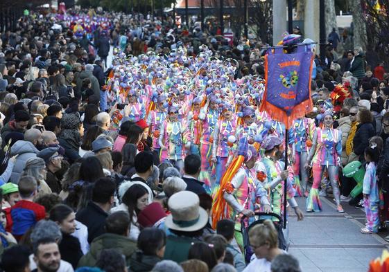
<svg viewBox="0 0 389 272"><path fill-rule="evenodd" d="M78 261L83 257L83 251L81 251L80 241L76 237L73 237L67 233L62 233L62 240L59 244L61 259L67 261L77 268Z"/></svg>

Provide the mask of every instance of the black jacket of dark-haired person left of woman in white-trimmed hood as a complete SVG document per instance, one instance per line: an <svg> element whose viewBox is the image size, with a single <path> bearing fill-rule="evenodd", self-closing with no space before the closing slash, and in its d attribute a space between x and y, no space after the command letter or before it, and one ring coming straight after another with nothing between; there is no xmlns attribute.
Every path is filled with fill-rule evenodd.
<svg viewBox="0 0 389 272"><path fill-rule="evenodd" d="M77 212L76 219L88 228L89 244L94 238L105 233L105 219L107 217L107 212L92 201L88 203L87 208L83 208Z"/></svg>

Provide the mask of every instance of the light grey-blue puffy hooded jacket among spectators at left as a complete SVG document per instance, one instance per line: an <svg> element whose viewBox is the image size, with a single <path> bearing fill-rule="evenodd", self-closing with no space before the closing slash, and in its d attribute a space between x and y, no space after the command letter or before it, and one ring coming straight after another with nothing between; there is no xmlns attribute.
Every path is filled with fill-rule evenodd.
<svg viewBox="0 0 389 272"><path fill-rule="evenodd" d="M11 147L10 156L19 155L16 158L15 166L13 167L10 181L12 183L18 183L20 174L24 170L24 166L26 166L26 161L28 158L34 158L39 153L39 150L33 145L33 143L28 142L26 140L18 140Z"/></svg>

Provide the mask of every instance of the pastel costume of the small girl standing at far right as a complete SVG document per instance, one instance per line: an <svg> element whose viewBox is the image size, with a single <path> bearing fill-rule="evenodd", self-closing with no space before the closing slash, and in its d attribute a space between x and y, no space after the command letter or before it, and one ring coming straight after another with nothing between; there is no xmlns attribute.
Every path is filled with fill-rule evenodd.
<svg viewBox="0 0 389 272"><path fill-rule="evenodd" d="M366 165L365 177L363 178L363 194L368 194L368 197L363 198L366 213L366 228L373 233L377 233L379 227L379 193L376 170L377 166L374 162L368 163Z"/></svg>

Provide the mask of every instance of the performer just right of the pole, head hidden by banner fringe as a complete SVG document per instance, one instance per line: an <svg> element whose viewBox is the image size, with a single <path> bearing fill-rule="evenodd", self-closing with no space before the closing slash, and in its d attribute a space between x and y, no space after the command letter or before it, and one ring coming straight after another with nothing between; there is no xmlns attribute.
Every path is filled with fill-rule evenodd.
<svg viewBox="0 0 389 272"><path fill-rule="evenodd" d="M295 174L294 186L300 197L302 197L302 195L308 197L309 195L306 186L308 183L308 172L306 172L305 163L309 147L312 146L315 128L315 121L311 118L304 117L295 120L294 126L290 130L290 138L294 144L294 152L291 160L293 162L293 172Z"/></svg>

